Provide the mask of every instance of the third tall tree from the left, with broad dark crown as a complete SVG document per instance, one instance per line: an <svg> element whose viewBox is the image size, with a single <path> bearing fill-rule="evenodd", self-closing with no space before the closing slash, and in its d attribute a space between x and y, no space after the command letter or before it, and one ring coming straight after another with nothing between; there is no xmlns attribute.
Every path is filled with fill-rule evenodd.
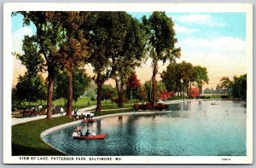
<svg viewBox="0 0 256 168"><path fill-rule="evenodd" d="M129 17L125 12L95 12L89 31L91 55L88 59L96 72L93 78L97 84L96 112L101 112L102 84L112 78L116 64L122 54Z"/></svg>

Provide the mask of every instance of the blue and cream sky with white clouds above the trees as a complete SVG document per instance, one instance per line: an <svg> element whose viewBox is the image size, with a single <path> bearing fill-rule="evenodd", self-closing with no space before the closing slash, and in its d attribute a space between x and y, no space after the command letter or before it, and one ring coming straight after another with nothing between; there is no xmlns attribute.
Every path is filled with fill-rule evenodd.
<svg viewBox="0 0 256 168"><path fill-rule="evenodd" d="M129 12L137 19L150 13ZM246 14L245 13L168 13L174 21L177 47L181 47L182 55L177 62L187 61L194 66L207 67L209 84L204 88L215 88L219 80L228 76L240 76L246 73ZM12 16L12 51L23 54L22 39L24 35L36 33L34 26L22 26L20 14ZM152 76L151 60L137 67L137 77L143 83ZM20 74L26 68L20 65L14 56L13 84L17 83ZM159 72L166 70L168 62L163 66L159 61ZM86 66L92 75L92 67ZM158 75L160 80L160 75ZM111 83L111 81L108 83Z"/></svg>

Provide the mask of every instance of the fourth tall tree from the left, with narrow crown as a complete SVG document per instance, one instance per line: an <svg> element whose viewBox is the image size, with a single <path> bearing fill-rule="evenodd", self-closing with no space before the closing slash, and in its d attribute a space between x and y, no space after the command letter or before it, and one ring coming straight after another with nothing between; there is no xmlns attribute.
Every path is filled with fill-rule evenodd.
<svg viewBox="0 0 256 168"><path fill-rule="evenodd" d="M138 20L132 18L129 14L127 16L125 43L119 57L116 59L116 64L113 65L116 70L113 78L119 96L118 107L123 107L123 92L127 78L134 72L135 67L140 65L145 56L145 32Z"/></svg>

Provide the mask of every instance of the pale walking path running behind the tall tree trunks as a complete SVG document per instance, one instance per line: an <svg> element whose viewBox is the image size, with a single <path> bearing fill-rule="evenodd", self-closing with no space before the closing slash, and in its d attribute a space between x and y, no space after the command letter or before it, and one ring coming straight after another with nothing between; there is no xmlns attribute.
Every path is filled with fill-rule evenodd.
<svg viewBox="0 0 256 168"><path fill-rule="evenodd" d="M81 108L79 110L88 111L88 110L92 110L92 109L95 109L95 108L96 108L96 105L95 106L90 106L90 107L84 107L84 108ZM66 113L63 113L63 115L66 115ZM60 117L60 116L61 116L60 113L56 113L56 114L52 115L53 118ZM35 116L35 117L32 117L32 118L12 118L12 125L18 125L20 123L26 123L26 122L29 122L29 121L33 121L33 120L37 120L37 119L45 119L45 118L46 118L46 115L38 115L38 116Z"/></svg>

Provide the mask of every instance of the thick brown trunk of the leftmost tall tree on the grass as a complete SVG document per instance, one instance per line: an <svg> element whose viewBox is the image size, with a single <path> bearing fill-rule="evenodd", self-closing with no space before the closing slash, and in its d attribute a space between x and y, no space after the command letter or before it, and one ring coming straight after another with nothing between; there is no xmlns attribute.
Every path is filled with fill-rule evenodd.
<svg viewBox="0 0 256 168"><path fill-rule="evenodd" d="M47 118L52 119L52 96L53 96L53 84L54 84L54 75L50 70L48 71L48 96L47 96Z"/></svg>

